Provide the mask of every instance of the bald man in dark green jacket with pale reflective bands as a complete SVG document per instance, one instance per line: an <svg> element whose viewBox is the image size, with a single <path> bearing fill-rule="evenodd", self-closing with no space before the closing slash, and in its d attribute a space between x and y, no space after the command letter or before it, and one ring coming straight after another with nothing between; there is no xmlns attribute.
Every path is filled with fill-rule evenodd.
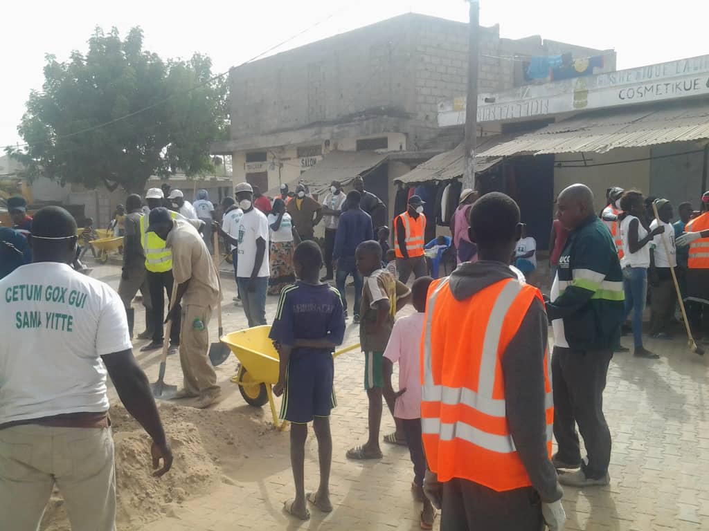
<svg viewBox="0 0 709 531"><path fill-rule="evenodd" d="M593 212L593 193L583 184L562 190L557 217L570 231L559 258L547 316L554 329L552 384L557 469L569 486L607 485L610 430L603 416L603 389L623 310L623 272L610 232ZM581 460L578 423L588 452Z"/></svg>

